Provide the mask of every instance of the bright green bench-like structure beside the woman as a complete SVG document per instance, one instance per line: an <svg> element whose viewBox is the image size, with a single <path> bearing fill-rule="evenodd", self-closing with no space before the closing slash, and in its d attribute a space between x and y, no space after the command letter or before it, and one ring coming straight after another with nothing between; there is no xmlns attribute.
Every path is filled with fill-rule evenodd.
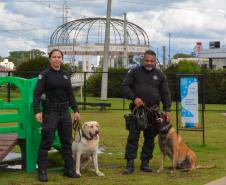
<svg viewBox="0 0 226 185"><path fill-rule="evenodd" d="M36 170L36 160L41 137L40 124L36 122L33 110L33 92L37 78L0 77L0 86L8 83L15 85L19 89L20 98L12 99L10 102L0 99L0 110L9 110L7 111L9 113L0 112L0 134L15 133L18 135L24 169L26 172L33 172ZM4 126L6 125L5 123L16 124L14 126ZM57 134L53 147L60 149Z"/></svg>

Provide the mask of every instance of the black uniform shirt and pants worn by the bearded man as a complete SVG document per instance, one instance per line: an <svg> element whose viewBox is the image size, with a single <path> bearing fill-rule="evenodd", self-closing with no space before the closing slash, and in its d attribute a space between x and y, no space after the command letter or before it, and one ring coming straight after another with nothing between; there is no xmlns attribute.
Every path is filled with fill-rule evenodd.
<svg viewBox="0 0 226 185"><path fill-rule="evenodd" d="M136 67L130 70L123 81L123 90L126 98L135 100L141 98L148 106L159 106L160 101L163 104L163 110L170 112L171 98L168 83L165 75L158 69L148 71L144 66ZM152 114L153 115L153 114ZM148 114L148 120L153 120ZM149 123L143 131L144 143L141 152L141 160L149 161L152 158L154 150L154 138L157 135L157 128L154 123ZM132 125L129 130L129 136L126 145L125 158L135 159L137 157L138 141L140 131Z"/></svg>

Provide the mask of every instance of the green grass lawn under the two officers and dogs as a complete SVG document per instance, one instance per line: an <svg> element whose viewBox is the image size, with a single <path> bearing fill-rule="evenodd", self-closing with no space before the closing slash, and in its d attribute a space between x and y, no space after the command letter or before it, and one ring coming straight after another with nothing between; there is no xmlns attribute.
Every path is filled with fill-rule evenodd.
<svg viewBox="0 0 226 185"><path fill-rule="evenodd" d="M226 122L225 116L219 112L207 112L205 114L205 138L206 145L202 145L201 132L180 131L182 138L196 152L200 164L216 164L215 169L199 169L190 172L177 171L170 174L169 167L171 162L166 158L165 170L158 174L155 171L159 167L160 150L156 138L156 147L154 157L150 164L154 169L153 173L144 173L139 171L140 150L143 137L140 138L138 158L135 166L136 170L132 175L122 175L125 166L124 148L128 132L125 130L123 114L128 111L106 112L86 111L81 112L81 121L97 120L100 122L100 146L104 152L99 155L100 170L105 173L105 177L97 177L89 169L82 172L80 179L70 179L64 177L63 162L61 155L56 152L49 156L49 159L56 163L55 166L48 169L48 185L202 185L217 178L225 176L226 171ZM174 121L175 122L175 115ZM24 171L6 171L0 169L1 185L41 185L37 180L36 173L25 173Z"/></svg>

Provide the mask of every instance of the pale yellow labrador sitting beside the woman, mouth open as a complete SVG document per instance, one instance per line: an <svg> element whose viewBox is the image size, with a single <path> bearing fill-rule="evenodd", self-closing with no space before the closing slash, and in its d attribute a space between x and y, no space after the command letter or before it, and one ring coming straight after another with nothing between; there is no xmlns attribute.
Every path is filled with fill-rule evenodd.
<svg viewBox="0 0 226 185"><path fill-rule="evenodd" d="M85 122L79 131L81 137L72 143L72 155L75 161L75 171L81 176L80 169L84 169L93 161L95 172L104 176L98 167L99 124L96 121Z"/></svg>

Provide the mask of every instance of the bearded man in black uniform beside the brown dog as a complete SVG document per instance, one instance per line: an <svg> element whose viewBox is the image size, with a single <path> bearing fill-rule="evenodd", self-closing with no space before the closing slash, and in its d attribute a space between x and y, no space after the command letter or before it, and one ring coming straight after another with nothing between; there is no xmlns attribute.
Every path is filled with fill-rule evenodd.
<svg viewBox="0 0 226 185"><path fill-rule="evenodd" d="M126 98L133 101L132 109L136 107L148 108L157 106L159 108L160 101L163 104L168 121L171 119L171 97L165 75L156 69L156 54L152 50L144 53L143 64L139 67L131 69L123 81L123 90ZM143 130L144 143L141 152L140 170L151 172L149 160L152 158L154 150L154 138L157 135L157 128L153 123L152 114L148 114L148 126ZM138 141L140 130L133 124L130 127L125 149L125 159L127 165L124 174L131 174L134 171L134 159L137 157Z"/></svg>

